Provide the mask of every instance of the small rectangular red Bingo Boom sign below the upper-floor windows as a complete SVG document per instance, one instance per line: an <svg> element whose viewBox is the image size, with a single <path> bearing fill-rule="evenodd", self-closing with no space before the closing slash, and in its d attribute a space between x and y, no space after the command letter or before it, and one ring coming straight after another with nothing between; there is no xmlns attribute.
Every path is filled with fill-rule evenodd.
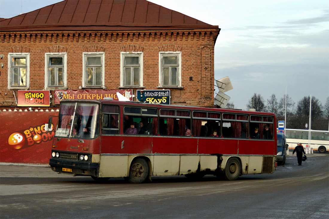
<svg viewBox="0 0 329 219"><path fill-rule="evenodd" d="M49 90L18 90L17 106L19 107L49 107Z"/></svg>

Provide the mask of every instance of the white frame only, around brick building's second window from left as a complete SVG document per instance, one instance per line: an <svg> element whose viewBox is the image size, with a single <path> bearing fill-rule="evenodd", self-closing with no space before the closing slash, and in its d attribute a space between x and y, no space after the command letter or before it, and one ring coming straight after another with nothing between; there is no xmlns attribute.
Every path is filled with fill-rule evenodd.
<svg viewBox="0 0 329 219"><path fill-rule="evenodd" d="M63 86L49 87L48 62L50 57L63 57ZM55 90L57 88L67 89L67 53L66 52L46 52L44 54L44 88L45 90Z"/></svg>

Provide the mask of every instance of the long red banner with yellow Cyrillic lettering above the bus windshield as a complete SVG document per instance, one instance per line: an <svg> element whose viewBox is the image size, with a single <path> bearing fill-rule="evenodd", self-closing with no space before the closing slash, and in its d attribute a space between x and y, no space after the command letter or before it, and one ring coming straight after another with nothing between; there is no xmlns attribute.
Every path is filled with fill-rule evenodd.
<svg viewBox="0 0 329 219"><path fill-rule="evenodd" d="M133 100L133 90L55 90L54 103L60 104L62 100L102 100L104 97L118 100L116 92Z"/></svg>

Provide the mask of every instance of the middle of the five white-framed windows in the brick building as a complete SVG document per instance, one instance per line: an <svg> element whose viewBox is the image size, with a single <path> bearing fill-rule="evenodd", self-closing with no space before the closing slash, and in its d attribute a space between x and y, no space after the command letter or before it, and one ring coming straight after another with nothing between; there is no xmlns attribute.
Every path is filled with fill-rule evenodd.
<svg viewBox="0 0 329 219"><path fill-rule="evenodd" d="M104 53L84 54L83 87L104 87Z"/></svg>

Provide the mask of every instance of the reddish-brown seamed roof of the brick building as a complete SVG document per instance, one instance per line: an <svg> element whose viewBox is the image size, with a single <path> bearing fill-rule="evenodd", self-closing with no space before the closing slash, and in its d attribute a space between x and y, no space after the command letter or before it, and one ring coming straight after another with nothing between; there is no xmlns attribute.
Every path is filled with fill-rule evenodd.
<svg viewBox="0 0 329 219"><path fill-rule="evenodd" d="M218 29L146 0L64 0L0 22L0 31Z"/></svg>

